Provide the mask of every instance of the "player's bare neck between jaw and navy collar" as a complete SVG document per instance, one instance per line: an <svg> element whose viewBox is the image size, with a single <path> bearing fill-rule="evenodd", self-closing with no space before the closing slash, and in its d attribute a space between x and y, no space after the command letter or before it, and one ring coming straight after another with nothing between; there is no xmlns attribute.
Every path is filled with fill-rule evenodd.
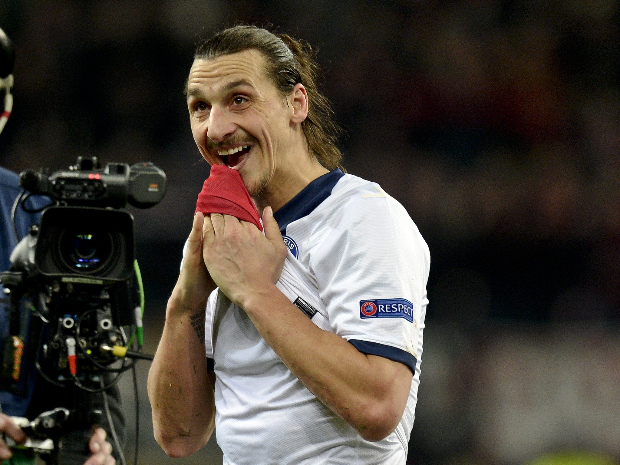
<svg viewBox="0 0 620 465"><path fill-rule="evenodd" d="M329 173L329 170L308 152L305 141L299 149L293 151L299 156L291 157L288 162L278 166L262 195L253 199L261 216L266 206L271 206L273 211L280 210L317 177Z"/></svg>

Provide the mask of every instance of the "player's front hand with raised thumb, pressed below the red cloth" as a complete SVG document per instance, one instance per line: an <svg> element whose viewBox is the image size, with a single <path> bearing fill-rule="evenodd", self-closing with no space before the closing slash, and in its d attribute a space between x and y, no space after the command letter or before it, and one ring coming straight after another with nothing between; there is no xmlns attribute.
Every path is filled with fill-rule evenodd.
<svg viewBox="0 0 620 465"><path fill-rule="evenodd" d="M263 211L265 236L252 223L212 213L203 224L203 259L219 289L244 303L280 278L286 245L270 206Z"/></svg>

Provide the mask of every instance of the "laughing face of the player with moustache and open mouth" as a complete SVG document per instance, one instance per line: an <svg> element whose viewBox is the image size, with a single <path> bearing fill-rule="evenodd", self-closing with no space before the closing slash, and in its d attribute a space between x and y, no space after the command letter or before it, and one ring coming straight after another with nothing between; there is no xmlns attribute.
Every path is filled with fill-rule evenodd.
<svg viewBox="0 0 620 465"><path fill-rule="evenodd" d="M238 170L252 197L286 177L298 151L296 108L289 103L257 50L195 60L190 70L187 106L198 149L209 164Z"/></svg>

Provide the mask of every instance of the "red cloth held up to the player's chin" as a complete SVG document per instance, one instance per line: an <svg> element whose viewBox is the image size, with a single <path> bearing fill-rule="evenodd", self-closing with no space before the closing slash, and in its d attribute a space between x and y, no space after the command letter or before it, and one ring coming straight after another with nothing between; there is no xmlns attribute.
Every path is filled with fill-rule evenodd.
<svg viewBox="0 0 620 465"><path fill-rule="evenodd" d="M259 212L256 211L241 175L226 165L211 166L211 174L205 179L202 191L198 194L195 213L198 211L205 215L221 213L236 216L242 221L254 223L261 232L263 231Z"/></svg>

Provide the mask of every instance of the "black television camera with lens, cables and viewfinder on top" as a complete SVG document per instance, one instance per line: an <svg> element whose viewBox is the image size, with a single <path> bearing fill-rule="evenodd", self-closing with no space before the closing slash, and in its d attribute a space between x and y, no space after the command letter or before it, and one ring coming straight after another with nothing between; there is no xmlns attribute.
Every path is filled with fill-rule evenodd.
<svg viewBox="0 0 620 465"><path fill-rule="evenodd" d="M69 170L20 174L24 192L52 200L39 226L30 228L11 254L11 269L0 273L9 298L9 336L2 343L0 387L15 390L20 378L24 306L44 324L38 337L36 366L57 386L103 389L102 374L123 365L112 347L128 347L123 327L135 327L136 292L133 217L118 210L128 203L156 205L166 192L166 174L150 162L132 166L79 157ZM27 304L24 304L24 303ZM118 378L117 376L117 378Z"/></svg>

